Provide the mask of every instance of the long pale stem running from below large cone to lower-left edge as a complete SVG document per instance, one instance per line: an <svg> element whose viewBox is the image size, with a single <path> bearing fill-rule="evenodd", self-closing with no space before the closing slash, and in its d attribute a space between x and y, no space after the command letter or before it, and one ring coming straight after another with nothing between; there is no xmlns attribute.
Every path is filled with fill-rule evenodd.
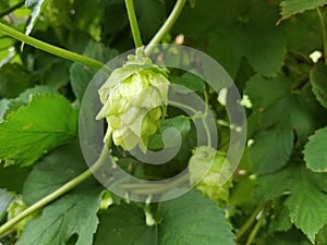
<svg viewBox="0 0 327 245"><path fill-rule="evenodd" d="M13 219L7 221L2 226L0 226L0 236L8 231L10 231L11 228L13 228L16 223L22 221L24 218L28 217L29 215L34 213L35 211L39 210L40 208L45 207L46 205L50 204L51 201L56 200L63 194L68 193L69 191L76 187L78 184L84 182L86 179L93 175L94 172L96 172L102 164L106 162L106 160L109 157L109 150L105 146L101 150L101 154L99 158L95 161L95 163L85 172L81 173L78 176L74 177L70 182L62 185L57 191L52 192L48 196L44 197L43 199L38 200L24 211L20 212L17 216L15 216Z"/></svg>

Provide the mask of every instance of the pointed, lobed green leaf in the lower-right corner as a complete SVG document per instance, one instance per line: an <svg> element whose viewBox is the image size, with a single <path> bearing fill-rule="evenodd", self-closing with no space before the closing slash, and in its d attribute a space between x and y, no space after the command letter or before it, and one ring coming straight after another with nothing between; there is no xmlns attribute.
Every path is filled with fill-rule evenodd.
<svg viewBox="0 0 327 245"><path fill-rule="evenodd" d="M259 177L255 193L261 200L287 196L284 205L292 223L314 242L327 224L327 174L313 173L302 163Z"/></svg>

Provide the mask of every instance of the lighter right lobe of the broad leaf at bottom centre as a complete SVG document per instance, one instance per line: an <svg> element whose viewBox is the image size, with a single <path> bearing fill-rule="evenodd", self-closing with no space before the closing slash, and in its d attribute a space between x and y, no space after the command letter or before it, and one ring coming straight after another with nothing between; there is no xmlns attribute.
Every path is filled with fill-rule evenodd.
<svg viewBox="0 0 327 245"><path fill-rule="evenodd" d="M159 234L160 245L234 244L222 209L196 191L162 204Z"/></svg>

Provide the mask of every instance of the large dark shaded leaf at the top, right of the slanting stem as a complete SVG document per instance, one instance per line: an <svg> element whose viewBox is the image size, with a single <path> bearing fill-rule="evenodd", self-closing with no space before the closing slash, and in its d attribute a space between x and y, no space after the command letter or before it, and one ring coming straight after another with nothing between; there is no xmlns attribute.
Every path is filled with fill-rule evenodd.
<svg viewBox="0 0 327 245"><path fill-rule="evenodd" d="M271 76L280 70L286 53L283 30L276 26L277 20L278 9L267 1L207 0L196 2L195 8L186 5L174 32L195 40L232 77L242 56L256 72Z"/></svg>

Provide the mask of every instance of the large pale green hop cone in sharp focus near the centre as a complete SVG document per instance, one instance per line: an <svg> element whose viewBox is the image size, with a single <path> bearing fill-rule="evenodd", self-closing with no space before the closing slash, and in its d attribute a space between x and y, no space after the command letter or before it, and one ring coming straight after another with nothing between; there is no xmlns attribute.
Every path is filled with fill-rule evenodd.
<svg viewBox="0 0 327 245"><path fill-rule="evenodd" d="M166 70L145 57L142 48L128 60L100 87L104 107L96 119L107 120L107 145L112 138L124 150L138 146L145 152L149 136L160 131L166 117L170 82Z"/></svg>

